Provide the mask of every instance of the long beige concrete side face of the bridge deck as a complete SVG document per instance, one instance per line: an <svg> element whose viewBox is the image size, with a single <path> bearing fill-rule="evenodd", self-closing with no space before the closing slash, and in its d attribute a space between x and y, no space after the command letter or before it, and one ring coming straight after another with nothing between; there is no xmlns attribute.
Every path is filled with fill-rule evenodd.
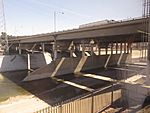
<svg viewBox="0 0 150 113"><path fill-rule="evenodd" d="M133 19L128 21L120 21L111 24L99 25L88 28L79 28L56 33L47 33L33 36L14 37L9 39L9 43L37 43L54 41L54 37L58 40L80 40L87 38L102 38L105 41L128 40L128 36L136 36L141 34L138 30L143 30L144 19ZM116 32L117 31L117 32ZM112 38L112 36L114 36ZM120 36L125 36L120 38ZM109 37L109 39L108 39ZM134 38L137 41L138 37ZM141 38L141 37L139 37ZM131 39L131 38L130 38Z"/></svg>

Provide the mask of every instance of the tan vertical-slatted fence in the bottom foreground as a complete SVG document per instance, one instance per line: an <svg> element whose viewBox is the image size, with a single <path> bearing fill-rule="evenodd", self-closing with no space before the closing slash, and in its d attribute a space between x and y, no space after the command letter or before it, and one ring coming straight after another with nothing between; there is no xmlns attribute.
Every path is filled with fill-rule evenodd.
<svg viewBox="0 0 150 113"><path fill-rule="evenodd" d="M34 113L98 113L122 97L122 90L103 89L96 93L73 98Z"/></svg>

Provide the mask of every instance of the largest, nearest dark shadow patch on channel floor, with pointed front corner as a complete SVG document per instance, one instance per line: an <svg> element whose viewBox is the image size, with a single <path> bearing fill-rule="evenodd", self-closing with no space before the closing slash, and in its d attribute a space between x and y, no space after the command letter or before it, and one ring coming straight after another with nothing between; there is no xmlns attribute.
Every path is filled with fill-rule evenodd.
<svg viewBox="0 0 150 113"><path fill-rule="evenodd" d="M2 75L49 105L55 105L62 101L87 93L87 91L80 90L63 83L58 83L50 78L31 82L22 82L22 80L28 75L27 71L6 72L2 73ZM64 77L66 76L68 75L65 75ZM67 79L70 80L72 77L73 75L69 75Z"/></svg>

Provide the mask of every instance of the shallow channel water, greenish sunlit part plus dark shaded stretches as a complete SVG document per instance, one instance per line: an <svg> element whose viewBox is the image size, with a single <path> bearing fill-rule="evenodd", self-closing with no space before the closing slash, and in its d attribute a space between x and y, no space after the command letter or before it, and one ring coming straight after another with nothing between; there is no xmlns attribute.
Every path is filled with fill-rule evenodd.
<svg viewBox="0 0 150 113"><path fill-rule="evenodd" d="M96 75L103 76L108 75L108 77L110 78L119 80L124 79L124 74L127 78L132 75L131 72L120 71L115 69L97 69L87 71L87 73L94 73ZM22 82L22 80L27 75L27 71L0 73L0 103L11 97L26 96L33 94L39 97L40 99L44 100L45 102L53 104L53 101L56 98L58 102L61 102L62 100L68 100L70 98L74 98L75 96L87 93L84 90L69 86L67 84L58 83L50 78L30 82ZM110 84L106 81L96 80L87 77L77 77L73 74L58 76L58 78L63 80L69 80L74 83L88 86L93 89L101 88L105 85ZM68 91L73 93L68 93Z"/></svg>

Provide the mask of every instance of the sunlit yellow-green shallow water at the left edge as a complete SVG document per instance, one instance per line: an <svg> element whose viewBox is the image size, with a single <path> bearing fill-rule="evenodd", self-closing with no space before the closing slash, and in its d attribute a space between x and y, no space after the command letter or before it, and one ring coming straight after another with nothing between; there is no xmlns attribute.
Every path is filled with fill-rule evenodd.
<svg viewBox="0 0 150 113"><path fill-rule="evenodd" d="M29 95L29 92L0 73L0 102L22 95Z"/></svg>

